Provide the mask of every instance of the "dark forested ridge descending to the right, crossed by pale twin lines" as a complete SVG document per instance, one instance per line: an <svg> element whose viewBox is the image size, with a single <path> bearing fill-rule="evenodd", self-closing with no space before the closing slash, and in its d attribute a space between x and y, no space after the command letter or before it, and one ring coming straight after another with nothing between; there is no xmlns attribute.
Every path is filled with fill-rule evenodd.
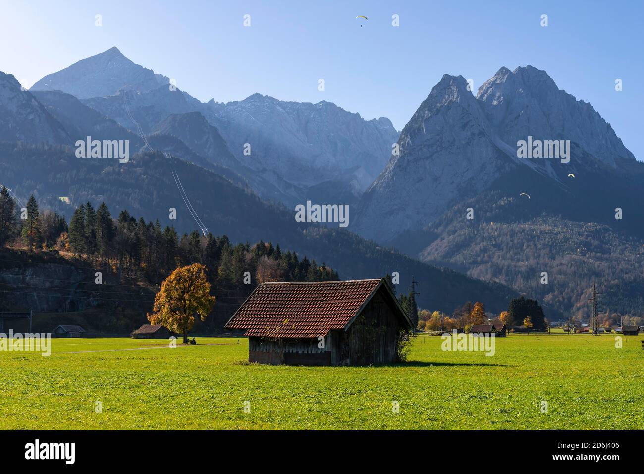
<svg viewBox="0 0 644 474"><path fill-rule="evenodd" d="M496 283L477 281L451 270L437 269L398 252L378 247L343 229L297 223L283 207L263 202L249 189L213 171L160 152L137 153L127 164L106 158L76 158L65 146L16 146L0 142L0 176L7 178L20 196L35 194L41 207L54 209L68 219L75 206L106 202L113 215L127 209L178 232L198 228L184 205L174 173L180 178L194 211L209 232L227 234L232 242L270 240L301 255L327 263L341 278L381 278L401 274L401 285L412 275L434 281L419 297L423 305L451 311L464 298L485 298L491 310L507 307L513 290ZM4 184L4 183L3 183ZM61 202L66 196L70 204ZM169 209L177 209L176 220Z"/></svg>

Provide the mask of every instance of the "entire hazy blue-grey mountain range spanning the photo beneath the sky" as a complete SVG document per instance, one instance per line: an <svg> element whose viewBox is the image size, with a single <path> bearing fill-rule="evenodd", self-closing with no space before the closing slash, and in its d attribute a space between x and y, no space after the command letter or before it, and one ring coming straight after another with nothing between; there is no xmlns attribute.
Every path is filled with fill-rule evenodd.
<svg viewBox="0 0 644 474"><path fill-rule="evenodd" d="M4 145L2 180L63 213L57 196L158 218L176 207L176 173L209 230L283 242L341 278L403 266L426 278L419 299L431 309L486 294L498 311L521 292L544 301L551 319L585 317L594 282L607 311L641 307L644 166L591 104L532 66L501 68L476 95L463 77L444 75L401 133L326 101L255 93L200 102L117 48L30 91L0 75L0 110L0 139L23 143ZM131 172L71 160L68 147L86 135L130 140ZM522 140L561 147L528 157ZM53 168L23 166L36 162ZM294 222L294 205L307 199L350 205L348 232ZM187 212L175 225L196 227Z"/></svg>

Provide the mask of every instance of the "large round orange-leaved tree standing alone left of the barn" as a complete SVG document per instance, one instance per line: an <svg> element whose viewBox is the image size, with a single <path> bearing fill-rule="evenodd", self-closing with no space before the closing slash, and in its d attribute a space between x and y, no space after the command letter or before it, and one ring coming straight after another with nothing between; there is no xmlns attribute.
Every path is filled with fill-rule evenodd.
<svg viewBox="0 0 644 474"><path fill-rule="evenodd" d="M198 315L205 321L213 309L214 301L214 296L210 295L210 283L205 278L204 265L193 263L176 269L161 284L155 296L154 312L147 314L147 320L183 334L184 344L187 344L194 316Z"/></svg>

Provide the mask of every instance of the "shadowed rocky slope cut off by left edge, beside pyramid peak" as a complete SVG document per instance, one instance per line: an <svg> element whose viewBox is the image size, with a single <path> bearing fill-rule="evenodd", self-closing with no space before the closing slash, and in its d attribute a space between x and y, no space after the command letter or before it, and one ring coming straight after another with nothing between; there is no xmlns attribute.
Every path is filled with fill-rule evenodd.
<svg viewBox="0 0 644 474"><path fill-rule="evenodd" d="M10 74L0 72L0 140L70 144L61 123Z"/></svg>

